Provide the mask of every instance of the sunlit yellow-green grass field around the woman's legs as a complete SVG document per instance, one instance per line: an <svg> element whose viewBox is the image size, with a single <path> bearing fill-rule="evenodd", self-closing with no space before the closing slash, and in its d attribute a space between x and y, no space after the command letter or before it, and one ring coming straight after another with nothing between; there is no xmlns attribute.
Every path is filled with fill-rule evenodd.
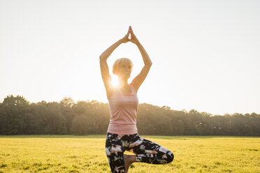
<svg viewBox="0 0 260 173"><path fill-rule="evenodd" d="M260 172L260 137L144 136L171 150L168 165L132 172ZM0 172L110 172L104 135L0 136ZM128 153L129 154L129 153Z"/></svg>

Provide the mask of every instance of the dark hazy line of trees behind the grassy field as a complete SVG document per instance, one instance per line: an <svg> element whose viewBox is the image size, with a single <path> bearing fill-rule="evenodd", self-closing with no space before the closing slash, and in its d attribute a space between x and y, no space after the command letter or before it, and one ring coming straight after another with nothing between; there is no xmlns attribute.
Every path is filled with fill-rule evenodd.
<svg viewBox="0 0 260 173"><path fill-rule="evenodd" d="M105 135L109 121L108 103L96 100L29 103L10 95L0 103L0 135ZM221 116L142 103L137 128L139 135L260 136L260 114Z"/></svg>

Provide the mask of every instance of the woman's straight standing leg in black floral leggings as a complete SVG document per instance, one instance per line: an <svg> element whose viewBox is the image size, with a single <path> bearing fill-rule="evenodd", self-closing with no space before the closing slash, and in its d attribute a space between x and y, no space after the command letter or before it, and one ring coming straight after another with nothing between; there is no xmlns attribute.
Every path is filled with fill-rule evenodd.
<svg viewBox="0 0 260 173"><path fill-rule="evenodd" d="M106 156L113 173L125 172L124 146L117 134L108 133L106 136Z"/></svg>

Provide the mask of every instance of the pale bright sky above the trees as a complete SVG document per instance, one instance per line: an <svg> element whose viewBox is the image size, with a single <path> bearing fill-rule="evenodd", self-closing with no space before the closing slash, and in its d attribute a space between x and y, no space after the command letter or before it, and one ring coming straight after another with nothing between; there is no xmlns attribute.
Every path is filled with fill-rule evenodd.
<svg viewBox="0 0 260 173"><path fill-rule="evenodd" d="M152 60L139 103L211 114L260 113L260 1L0 0L0 101L108 103L99 55L131 25ZM108 58L143 68L136 45ZM113 80L117 77L113 76Z"/></svg>

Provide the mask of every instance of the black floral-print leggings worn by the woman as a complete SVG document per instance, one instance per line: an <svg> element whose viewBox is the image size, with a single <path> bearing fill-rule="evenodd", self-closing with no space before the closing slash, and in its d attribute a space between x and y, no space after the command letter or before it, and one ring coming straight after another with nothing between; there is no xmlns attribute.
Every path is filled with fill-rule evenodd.
<svg viewBox="0 0 260 173"><path fill-rule="evenodd" d="M138 133L117 135L107 133L106 155L112 172L124 172L124 151L136 153L136 162L165 164L173 161L173 153L150 140L145 140Z"/></svg>

